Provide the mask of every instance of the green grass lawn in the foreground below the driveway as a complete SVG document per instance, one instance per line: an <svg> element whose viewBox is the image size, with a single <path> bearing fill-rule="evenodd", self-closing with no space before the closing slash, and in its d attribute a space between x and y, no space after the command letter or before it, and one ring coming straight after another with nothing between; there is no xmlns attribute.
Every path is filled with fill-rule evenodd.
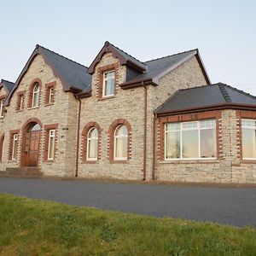
<svg viewBox="0 0 256 256"><path fill-rule="evenodd" d="M0 255L256 255L256 230L2 194Z"/></svg>

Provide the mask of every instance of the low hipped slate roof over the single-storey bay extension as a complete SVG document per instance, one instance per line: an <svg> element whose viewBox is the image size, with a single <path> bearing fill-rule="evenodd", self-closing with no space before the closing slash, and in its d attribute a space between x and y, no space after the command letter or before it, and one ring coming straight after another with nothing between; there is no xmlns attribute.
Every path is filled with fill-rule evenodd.
<svg viewBox="0 0 256 256"><path fill-rule="evenodd" d="M177 90L154 113L174 113L221 105L241 105L256 108L256 97L227 84L209 84Z"/></svg>

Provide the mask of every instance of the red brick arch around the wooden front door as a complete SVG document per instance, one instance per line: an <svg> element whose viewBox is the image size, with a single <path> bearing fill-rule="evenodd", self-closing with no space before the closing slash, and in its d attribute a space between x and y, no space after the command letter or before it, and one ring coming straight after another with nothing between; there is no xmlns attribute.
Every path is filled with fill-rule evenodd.
<svg viewBox="0 0 256 256"><path fill-rule="evenodd" d="M40 153L41 153L41 137L42 137L42 130L43 130L43 124L42 122L37 118L31 118L27 119L25 124L22 125L21 128L21 157L20 157L20 166L26 166L27 164L27 150L26 150L26 138L28 136L29 129L32 127L32 125L38 124L41 127L40 131L40 144L39 144L39 155L38 155L38 165L40 165Z"/></svg>

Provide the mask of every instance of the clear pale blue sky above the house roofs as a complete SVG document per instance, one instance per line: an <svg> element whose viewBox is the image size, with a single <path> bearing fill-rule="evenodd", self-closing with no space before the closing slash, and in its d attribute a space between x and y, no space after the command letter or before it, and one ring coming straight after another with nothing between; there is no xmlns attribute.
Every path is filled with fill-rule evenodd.
<svg viewBox="0 0 256 256"><path fill-rule="evenodd" d="M36 44L90 66L105 41L140 61L198 48L212 83L256 95L256 1L0 0L0 79Z"/></svg>

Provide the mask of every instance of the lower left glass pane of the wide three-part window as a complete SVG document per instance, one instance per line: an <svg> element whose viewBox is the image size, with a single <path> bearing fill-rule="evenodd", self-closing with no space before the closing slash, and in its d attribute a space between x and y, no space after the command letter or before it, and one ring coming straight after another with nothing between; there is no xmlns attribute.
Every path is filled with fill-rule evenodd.
<svg viewBox="0 0 256 256"><path fill-rule="evenodd" d="M166 159L180 158L180 131L166 133Z"/></svg>

